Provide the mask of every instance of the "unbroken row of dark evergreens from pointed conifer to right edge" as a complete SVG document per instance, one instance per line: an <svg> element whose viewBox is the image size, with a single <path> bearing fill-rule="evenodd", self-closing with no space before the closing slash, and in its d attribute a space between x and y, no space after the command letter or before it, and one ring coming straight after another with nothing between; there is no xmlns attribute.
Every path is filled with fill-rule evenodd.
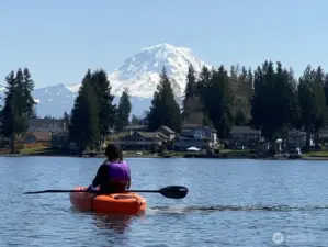
<svg viewBox="0 0 328 247"><path fill-rule="evenodd" d="M223 65L199 75L189 67L182 109L173 97L166 70L162 70L147 115L149 131L166 125L181 131L183 123L207 125L218 137L229 137L231 126L248 125L261 130L268 141L286 137L291 128L318 133L328 123L328 74L309 65L296 79L292 68L265 60L250 68ZM181 114L180 114L181 112Z"/></svg>

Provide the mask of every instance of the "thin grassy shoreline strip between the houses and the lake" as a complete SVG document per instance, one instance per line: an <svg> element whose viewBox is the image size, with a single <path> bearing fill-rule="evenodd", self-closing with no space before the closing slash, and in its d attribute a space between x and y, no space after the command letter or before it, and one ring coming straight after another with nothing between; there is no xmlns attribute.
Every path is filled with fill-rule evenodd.
<svg viewBox="0 0 328 247"><path fill-rule="evenodd" d="M9 150L0 149L0 156L5 157L24 157L24 156L54 156L54 157L87 157L87 158L104 158L102 154L97 154L94 156L78 156L72 154L65 154L52 148L38 147L38 148L24 148L20 154L10 154ZM123 156L125 158L214 158L214 159L227 159L227 158L240 158L240 159L263 159L263 160L274 160L274 159L285 159L285 158L274 158L274 157L260 157L257 154L251 154L245 150L229 150L224 149L219 154L213 156L205 155L193 155L190 153L168 153L167 156L157 156L150 151L124 151ZM303 154L303 157L298 158L301 160L328 160L328 150L317 150Z"/></svg>

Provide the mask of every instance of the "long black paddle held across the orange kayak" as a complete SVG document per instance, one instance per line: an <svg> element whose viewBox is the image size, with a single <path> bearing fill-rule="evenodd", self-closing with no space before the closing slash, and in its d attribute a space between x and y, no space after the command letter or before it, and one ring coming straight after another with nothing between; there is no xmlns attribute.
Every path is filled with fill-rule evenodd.
<svg viewBox="0 0 328 247"><path fill-rule="evenodd" d="M42 191L30 191L24 192L23 194L42 194L42 193L75 193L75 192L89 192L89 193L105 193L105 191L83 191L83 190L42 190ZM137 193L160 193L166 198L171 199L182 199L188 194L186 187L180 186L170 186L161 188L160 190L127 190L127 192L137 192Z"/></svg>

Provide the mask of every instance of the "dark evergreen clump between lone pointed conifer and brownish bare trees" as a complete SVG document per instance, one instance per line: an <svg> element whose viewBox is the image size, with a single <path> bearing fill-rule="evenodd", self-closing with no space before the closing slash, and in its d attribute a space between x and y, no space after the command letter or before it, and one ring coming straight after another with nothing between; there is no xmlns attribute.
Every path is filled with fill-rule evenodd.
<svg viewBox="0 0 328 247"><path fill-rule="evenodd" d="M213 126L219 137L229 135L234 114L231 79L224 66L208 70L203 67L199 76L189 67L183 99L184 123Z"/></svg>

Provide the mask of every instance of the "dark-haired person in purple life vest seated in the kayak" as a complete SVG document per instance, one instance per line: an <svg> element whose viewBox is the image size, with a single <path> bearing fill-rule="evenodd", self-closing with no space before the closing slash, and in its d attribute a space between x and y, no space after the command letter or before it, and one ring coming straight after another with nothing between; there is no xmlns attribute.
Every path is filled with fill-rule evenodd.
<svg viewBox="0 0 328 247"><path fill-rule="evenodd" d="M115 144L109 144L104 151L106 160L102 164L88 191L98 190L106 193L123 193L131 186L131 171L126 161L123 161L122 149Z"/></svg>

